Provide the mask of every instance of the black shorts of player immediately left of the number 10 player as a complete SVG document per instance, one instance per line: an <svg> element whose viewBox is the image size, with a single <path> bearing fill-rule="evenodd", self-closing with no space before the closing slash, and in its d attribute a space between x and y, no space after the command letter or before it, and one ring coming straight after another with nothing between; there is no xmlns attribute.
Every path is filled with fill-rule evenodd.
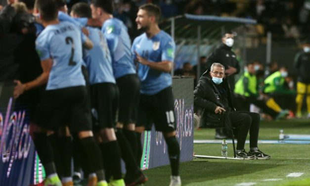
<svg viewBox="0 0 310 186"><path fill-rule="evenodd" d="M140 80L136 74L122 76L116 80L120 90L118 121L124 125L135 123L139 103Z"/></svg>

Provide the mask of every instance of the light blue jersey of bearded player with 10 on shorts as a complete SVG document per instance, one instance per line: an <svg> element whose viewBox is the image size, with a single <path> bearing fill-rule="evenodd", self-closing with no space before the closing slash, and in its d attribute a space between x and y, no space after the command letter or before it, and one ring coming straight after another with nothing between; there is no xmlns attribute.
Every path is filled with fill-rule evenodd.
<svg viewBox="0 0 310 186"><path fill-rule="evenodd" d="M164 31L160 31L152 38L146 34L136 37L133 41L132 53L135 58L137 52L141 57L151 62L174 61L176 44ZM141 80L140 93L153 95L159 93L172 84L170 73L158 71L139 63L138 76Z"/></svg>

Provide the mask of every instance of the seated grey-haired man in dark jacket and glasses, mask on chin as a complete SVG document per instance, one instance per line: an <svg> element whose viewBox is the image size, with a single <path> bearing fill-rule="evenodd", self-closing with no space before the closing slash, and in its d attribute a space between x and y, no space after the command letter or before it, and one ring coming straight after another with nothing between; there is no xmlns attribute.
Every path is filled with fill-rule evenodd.
<svg viewBox="0 0 310 186"><path fill-rule="evenodd" d="M254 112L235 111L231 91L224 78L225 67L220 63L213 63L211 71L205 72L194 91L195 106L203 109L201 124L210 123L210 119L225 115L225 124L230 123L237 130L237 158L269 159L270 156L258 149L257 141L260 129L260 115ZM209 121L208 121L209 120ZM216 120L213 120L216 121ZM223 124L224 125L224 124ZM250 151L244 149L245 140L250 132Z"/></svg>

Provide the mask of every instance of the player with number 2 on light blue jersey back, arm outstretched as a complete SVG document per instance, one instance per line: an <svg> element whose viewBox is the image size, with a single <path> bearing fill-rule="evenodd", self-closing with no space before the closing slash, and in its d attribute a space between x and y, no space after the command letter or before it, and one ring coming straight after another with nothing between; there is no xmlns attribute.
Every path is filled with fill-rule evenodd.
<svg viewBox="0 0 310 186"><path fill-rule="evenodd" d="M14 97L47 83L38 105L38 125L30 127L46 173L44 186L62 186L46 130L57 131L63 125L69 125L71 133L79 136L87 154L89 170L97 175L97 186L107 186L101 166L101 152L91 132L85 80L81 71L81 35L71 23L59 22L55 0L37 0L36 7L45 27L36 40L43 73L28 83L15 81Z"/></svg>

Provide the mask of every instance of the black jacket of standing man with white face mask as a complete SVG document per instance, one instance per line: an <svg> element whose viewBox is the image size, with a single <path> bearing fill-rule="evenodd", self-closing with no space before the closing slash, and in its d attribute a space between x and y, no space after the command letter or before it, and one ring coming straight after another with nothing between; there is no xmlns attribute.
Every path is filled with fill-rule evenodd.
<svg viewBox="0 0 310 186"><path fill-rule="evenodd" d="M235 74L238 74L240 72L240 65L236 57L237 56L235 52L231 51L231 47L228 47L222 43L221 46L215 49L208 57L208 61L206 64L207 69L210 70L213 63L221 63L222 65L224 65L225 69L227 69L228 66L236 68L237 72ZM228 76L227 80L231 89L234 90L234 75Z"/></svg>

